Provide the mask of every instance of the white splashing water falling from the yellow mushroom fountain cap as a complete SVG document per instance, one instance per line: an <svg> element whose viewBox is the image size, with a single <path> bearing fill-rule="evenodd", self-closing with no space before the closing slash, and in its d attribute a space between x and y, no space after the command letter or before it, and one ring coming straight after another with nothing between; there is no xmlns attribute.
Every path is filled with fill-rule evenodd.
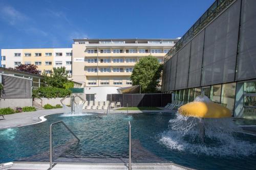
<svg viewBox="0 0 256 170"><path fill-rule="evenodd" d="M206 96L198 96L194 102L210 102ZM205 129L205 142L200 140L200 127ZM162 133L160 142L171 150L209 156L256 155L256 143L238 138L240 127L231 118L187 117L176 113L169 120L169 130Z"/></svg>

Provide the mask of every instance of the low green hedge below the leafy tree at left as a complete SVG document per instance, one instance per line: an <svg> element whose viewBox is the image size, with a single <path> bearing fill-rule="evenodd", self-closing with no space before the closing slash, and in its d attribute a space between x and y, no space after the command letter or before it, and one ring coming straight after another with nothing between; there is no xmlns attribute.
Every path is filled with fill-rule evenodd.
<svg viewBox="0 0 256 170"><path fill-rule="evenodd" d="M33 90L33 98L64 98L71 94L70 89L62 89L57 87L40 87Z"/></svg>

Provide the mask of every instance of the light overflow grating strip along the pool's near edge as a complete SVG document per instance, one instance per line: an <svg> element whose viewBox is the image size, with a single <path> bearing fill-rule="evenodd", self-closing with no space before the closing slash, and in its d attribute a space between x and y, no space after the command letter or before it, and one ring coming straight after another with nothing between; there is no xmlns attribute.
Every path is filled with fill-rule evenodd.
<svg viewBox="0 0 256 170"><path fill-rule="evenodd" d="M14 166L11 167L11 169L16 169L16 170L25 170L25 169L30 169L30 170L47 170L49 169L49 164L46 163L33 163L33 162L15 162ZM52 170L68 170L68 169L75 169L75 170L126 170L128 169L127 164L125 163L56 163L53 167ZM142 170L142 169L162 169L162 170L192 170L191 168L187 168L184 166L177 165L175 163L132 163L132 169L133 170ZM2 170L2 169L1 169Z"/></svg>

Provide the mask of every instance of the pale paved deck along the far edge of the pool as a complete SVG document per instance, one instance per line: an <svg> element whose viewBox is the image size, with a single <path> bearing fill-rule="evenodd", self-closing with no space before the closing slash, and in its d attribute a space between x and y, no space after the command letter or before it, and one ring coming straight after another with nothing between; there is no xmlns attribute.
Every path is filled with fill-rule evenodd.
<svg viewBox="0 0 256 170"><path fill-rule="evenodd" d="M106 113L106 110L83 110L83 113L86 112L95 112L95 113ZM172 110L129 110L128 113L159 113L159 112L168 112L174 113ZM22 112L4 115L5 119L0 117L0 129L20 127L31 124L36 124L42 120L39 118L41 116L46 116L50 114L63 113L63 109L48 109L48 110L37 110L33 112ZM113 113L127 113L125 110L110 110L110 114Z"/></svg>

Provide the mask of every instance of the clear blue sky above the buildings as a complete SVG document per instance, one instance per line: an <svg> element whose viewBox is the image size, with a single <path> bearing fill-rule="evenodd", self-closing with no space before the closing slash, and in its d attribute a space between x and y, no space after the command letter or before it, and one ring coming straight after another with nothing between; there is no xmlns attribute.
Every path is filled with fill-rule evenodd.
<svg viewBox="0 0 256 170"><path fill-rule="evenodd" d="M0 48L71 47L73 38L181 37L214 0L0 0Z"/></svg>

